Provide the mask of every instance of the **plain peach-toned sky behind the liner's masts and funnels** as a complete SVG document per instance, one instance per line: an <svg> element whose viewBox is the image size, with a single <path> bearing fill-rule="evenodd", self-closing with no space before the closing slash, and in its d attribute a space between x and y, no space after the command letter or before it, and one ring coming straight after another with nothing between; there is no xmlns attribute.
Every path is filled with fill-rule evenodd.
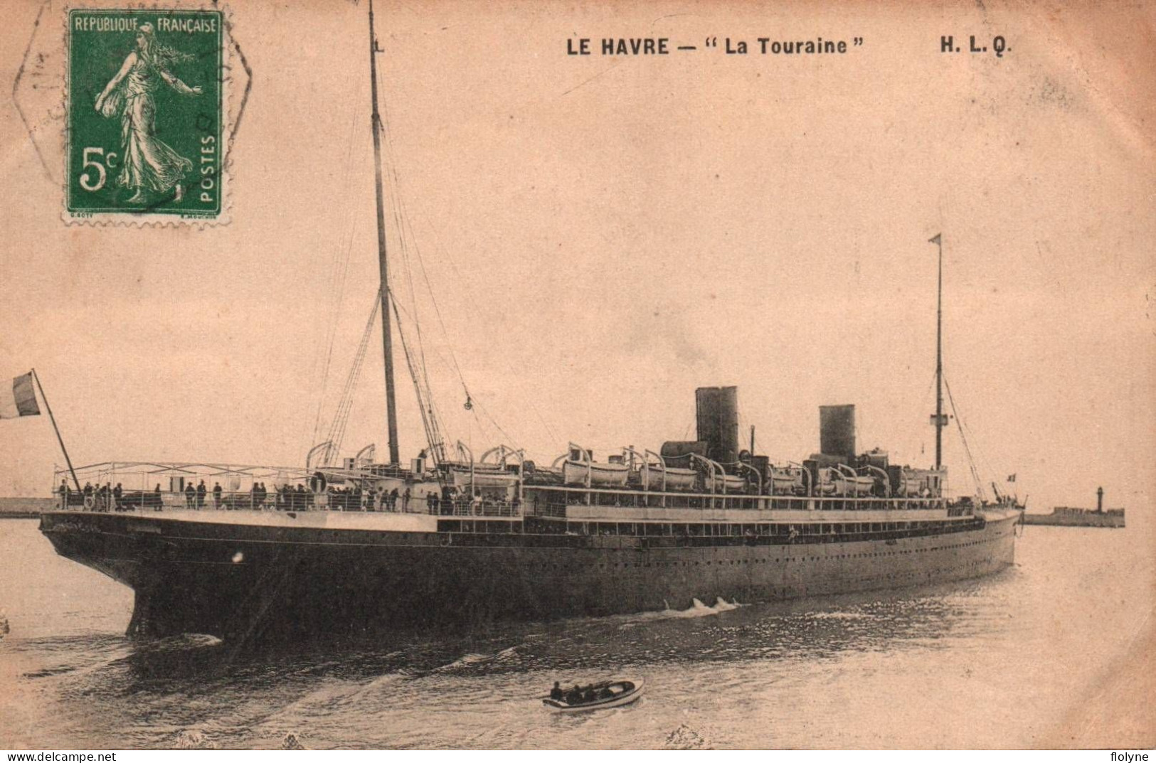
<svg viewBox="0 0 1156 763"><path fill-rule="evenodd" d="M231 222L203 230L61 222L65 6L5 9L0 79L20 83L0 111L0 370L37 369L77 464L301 462L377 288L364 6L225 7L251 89ZM425 268L410 262L415 298L395 290L425 311L455 437L542 460L568 439L658 444L683 436L695 386L738 384L744 423L778 457L813 450L815 407L846 401L865 446L926 459L926 242L942 232L948 378L991 477L1016 473L1036 510L1092 505L1104 484L1129 521L1105 575L1151 591L1150 7L377 10L391 193ZM941 53L942 35L964 51ZM971 54L970 35L1010 50ZM600 55L612 36L698 50ZM712 36L864 44L727 55L703 47ZM566 55L581 37L594 54ZM462 409L454 363L483 415ZM421 428L403 370L408 458ZM380 376L371 351L348 440L383 453ZM46 495L60 461L46 420L5 422L0 495ZM947 461L969 489L954 440ZM1081 621L1055 609L1057 628ZM1131 653L1042 746L1151 746L1154 634L1136 612Z"/></svg>

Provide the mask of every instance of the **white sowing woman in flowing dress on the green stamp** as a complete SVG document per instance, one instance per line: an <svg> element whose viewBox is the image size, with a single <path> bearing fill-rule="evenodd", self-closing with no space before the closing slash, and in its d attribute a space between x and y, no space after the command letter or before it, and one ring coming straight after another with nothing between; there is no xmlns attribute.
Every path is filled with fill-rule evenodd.
<svg viewBox="0 0 1156 763"><path fill-rule="evenodd" d="M173 64L192 58L158 43L153 24L141 24L136 50L128 53L96 99L96 110L103 116L120 117L124 165L117 185L133 190L128 201L143 200L144 192L163 194L172 188L177 191L177 201L183 195L180 180L192 171L193 163L155 135L153 94L163 81L181 95L200 95L200 86L191 88L169 71Z"/></svg>

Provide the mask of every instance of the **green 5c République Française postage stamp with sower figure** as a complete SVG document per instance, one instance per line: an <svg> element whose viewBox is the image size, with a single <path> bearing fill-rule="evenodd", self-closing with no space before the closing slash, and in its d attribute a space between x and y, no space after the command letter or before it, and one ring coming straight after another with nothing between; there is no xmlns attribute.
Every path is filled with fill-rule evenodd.
<svg viewBox="0 0 1156 763"><path fill-rule="evenodd" d="M65 216L221 222L220 10L68 12Z"/></svg>

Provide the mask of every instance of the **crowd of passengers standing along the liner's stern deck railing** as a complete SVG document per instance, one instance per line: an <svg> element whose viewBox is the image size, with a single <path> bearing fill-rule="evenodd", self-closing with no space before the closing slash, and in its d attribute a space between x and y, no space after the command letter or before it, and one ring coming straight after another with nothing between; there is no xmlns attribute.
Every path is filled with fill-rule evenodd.
<svg viewBox="0 0 1156 763"><path fill-rule="evenodd" d="M154 509L161 511L163 508L163 492L161 484L151 491L125 491L121 483L116 487L111 482L92 486L87 482L77 494L68 487L67 481L61 480L58 488L61 508L69 505L83 505L92 511L129 511L132 509ZM283 484L275 487L271 492L264 482L254 482L246 492L228 492L220 482L214 483L209 489L201 480L197 486L192 482L185 486L183 491L185 508L200 511L206 506L224 510L244 509L274 509L276 511L307 511L317 504L313 492L305 489L305 486ZM397 488L386 490L384 487L369 488L331 488L327 491L328 508L333 511L401 511L416 512L424 504L425 512L431 514L490 514L499 513L504 506L509 506L513 514L517 514L521 502L514 498L512 502L491 501L481 494L468 496L457 488L443 488L442 495L427 491L424 496L416 496L407 487L399 491Z"/></svg>

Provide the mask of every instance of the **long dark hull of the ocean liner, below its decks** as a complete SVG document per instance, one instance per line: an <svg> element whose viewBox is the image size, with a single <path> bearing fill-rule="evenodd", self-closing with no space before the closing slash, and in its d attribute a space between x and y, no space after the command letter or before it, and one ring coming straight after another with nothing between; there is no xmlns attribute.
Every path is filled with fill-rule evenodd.
<svg viewBox="0 0 1156 763"><path fill-rule="evenodd" d="M1018 520L1003 512L965 532L885 541L738 538L702 546L667 538L445 533L433 517L399 517L412 519L412 527L379 531L366 514L349 516L361 525L334 528L276 513L274 525L239 516L202 520L199 513L49 512L40 528L61 555L134 590L129 635L299 640L959 580L1013 563Z"/></svg>

